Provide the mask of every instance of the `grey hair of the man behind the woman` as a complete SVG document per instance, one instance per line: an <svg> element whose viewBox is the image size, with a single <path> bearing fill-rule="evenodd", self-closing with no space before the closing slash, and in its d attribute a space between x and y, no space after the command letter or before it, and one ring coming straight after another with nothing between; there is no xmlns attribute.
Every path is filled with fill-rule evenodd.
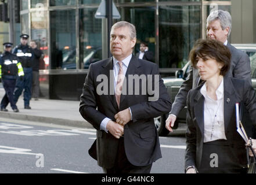
<svg viewBox="0 0 256 185"><path fill-rule="evenodd" d="M221 28L226 29L229 27L228 36L230 35L232 28L232 18L229 12L224 10L212 11L207 17L207 23L210 24L212 21L219 20L221 23Z"/></svg>

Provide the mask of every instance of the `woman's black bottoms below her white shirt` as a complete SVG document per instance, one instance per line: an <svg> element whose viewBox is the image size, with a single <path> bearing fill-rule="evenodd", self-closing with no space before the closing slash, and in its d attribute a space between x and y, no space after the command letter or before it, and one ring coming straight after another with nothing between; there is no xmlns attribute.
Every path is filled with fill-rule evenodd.
<svg viewBox="0 0 256 185"><path fill-rule="evenodd" d="M224 139L204 143L201 164L197 170L199 173L246 172L246 164L241 164L239 154L232 150L232 147ZM245 146L244 152L246 152Z"/></svg>

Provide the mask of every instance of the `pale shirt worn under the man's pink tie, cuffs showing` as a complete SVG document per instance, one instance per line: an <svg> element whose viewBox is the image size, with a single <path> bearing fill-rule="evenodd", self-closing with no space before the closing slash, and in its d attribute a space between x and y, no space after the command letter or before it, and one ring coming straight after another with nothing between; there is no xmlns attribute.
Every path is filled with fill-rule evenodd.
<svg viewBox="0 0 256 185"><path fill-rule="evenodd" d="M124 60L122 60L122 71L124 72L124 76L127 72L127 68L129 66L129 62L131 61L132 54L130 54L128 57L126 57ZM116 84L117 84L117 76L119 72L120 65L118 64L118 60L113 57L113 71L114 71L114 91L116 90ZM130 113L131 113L131 120L132 120L132 112L131 109L129 108ZM102 120L102 123L100 123L100 129L104 130L105 132L108 132L107 130L107 122L109 122L108 117Z"/></svg>

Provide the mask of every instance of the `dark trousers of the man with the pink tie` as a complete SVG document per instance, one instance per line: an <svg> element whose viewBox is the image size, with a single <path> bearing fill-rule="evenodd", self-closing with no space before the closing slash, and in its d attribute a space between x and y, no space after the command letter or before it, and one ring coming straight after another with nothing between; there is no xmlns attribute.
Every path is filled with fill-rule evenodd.
<svg viewBox="0 0 256 185"><path fill-rule="evenodd" d="M128 161L125 154L123 137L119 139L117 152L117 158L113 168L103 168L104 173L150 173L152 164L147 166L135 166Z"/></svg>

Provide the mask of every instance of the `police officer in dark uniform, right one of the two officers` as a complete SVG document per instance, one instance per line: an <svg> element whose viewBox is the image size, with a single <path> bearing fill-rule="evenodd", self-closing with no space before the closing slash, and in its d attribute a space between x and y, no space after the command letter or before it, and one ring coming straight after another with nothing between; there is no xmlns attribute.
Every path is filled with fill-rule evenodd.
<svg viewBox="0 0 256 185"><path fill-rule="evenodd" d="M14 92L15 102L18 101L23 89L24 89L24 108L31 109L30 99L31 99L31 87L33 80L33 50L27 45L28 35L20 35L20 45L16 46L13 50L13 54L19 58L21 65L24 70L24 78L17 79L16 88Z"/></svg>

